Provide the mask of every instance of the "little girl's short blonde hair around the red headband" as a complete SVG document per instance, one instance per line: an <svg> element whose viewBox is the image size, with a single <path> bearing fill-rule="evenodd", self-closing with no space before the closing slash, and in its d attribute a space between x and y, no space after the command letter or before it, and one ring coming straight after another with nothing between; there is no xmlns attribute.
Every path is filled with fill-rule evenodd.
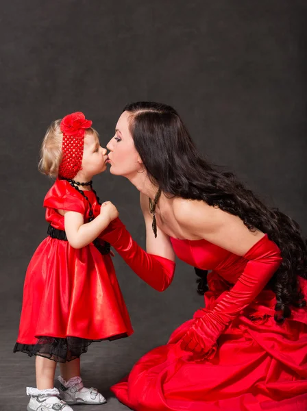
<svg viewBox="0 0 307 411"><path fill-rule="evenodd" d="M63 134L60 129L62 120L56 120L51 123L42 140L42 147L40 148L40 162L38 163L38 170L42 174L49 175L49 177L58 177L59 167L62 162L62 140ZM92 127L86 129L85 134L99 134Z"/></svg>

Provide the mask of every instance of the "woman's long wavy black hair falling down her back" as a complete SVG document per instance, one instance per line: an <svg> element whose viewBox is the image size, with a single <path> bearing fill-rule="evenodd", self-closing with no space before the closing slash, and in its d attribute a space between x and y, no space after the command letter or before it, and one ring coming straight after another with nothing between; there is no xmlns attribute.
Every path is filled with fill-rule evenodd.
<svg viewBox="0 0 307 411"><path fill-rule="evenodd" d="M251 231L267 233L278 245L282 264L269 283L277 301L275 321L290 316L291 305L306 306L297 281L297 275L307 278L307 246L299 225L277 208L267 208L233 173L219 171L201 158L171 106L140 101L126 105L123 111L132 114L130 132L153 184L170 195L203 200L234 214ZM198 291L204 293L207 272L195 271L201 277Z"/></svg>

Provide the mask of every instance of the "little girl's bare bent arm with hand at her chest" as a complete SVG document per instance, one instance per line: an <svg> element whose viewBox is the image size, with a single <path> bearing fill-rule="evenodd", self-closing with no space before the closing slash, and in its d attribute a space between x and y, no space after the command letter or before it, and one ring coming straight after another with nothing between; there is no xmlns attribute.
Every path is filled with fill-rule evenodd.
<svg viewBox="0 0 307 411"><path fill-rule="evenodd" d="M110 222L119 215L116 207L110 201L103 203L99 216L90 223L85 224L83 214L75 211L59 211L64 215L67 240L71 247L75 249L81 249L93 242L108 227Z"/></svg>

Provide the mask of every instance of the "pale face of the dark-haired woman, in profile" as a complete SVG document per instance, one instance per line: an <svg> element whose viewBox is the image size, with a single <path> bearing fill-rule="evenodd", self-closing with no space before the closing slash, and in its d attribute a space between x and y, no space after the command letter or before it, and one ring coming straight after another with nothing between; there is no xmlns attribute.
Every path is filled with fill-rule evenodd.
<svg viewBox="0 0 307 411"><path fill-rule="evenodd" d="M107 149L110 150L107 160L111 164L110 173L128 177L143 170L142 160L130 133L128 112L123 112L119 117L114 137L108 142Z"/></svg>

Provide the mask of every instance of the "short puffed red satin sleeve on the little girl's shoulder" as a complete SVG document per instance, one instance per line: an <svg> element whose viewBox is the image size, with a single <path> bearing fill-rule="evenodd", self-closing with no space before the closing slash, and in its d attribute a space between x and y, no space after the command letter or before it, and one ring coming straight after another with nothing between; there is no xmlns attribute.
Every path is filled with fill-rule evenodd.
<svg viewBox="0 0 307 411"><path fill-rule="evenodd" d="M86 204L77 190L69 182L57 179L55 184L47 192L43 203L45 208L55 210L75 211L81 214L86 212Z"/></svg>

